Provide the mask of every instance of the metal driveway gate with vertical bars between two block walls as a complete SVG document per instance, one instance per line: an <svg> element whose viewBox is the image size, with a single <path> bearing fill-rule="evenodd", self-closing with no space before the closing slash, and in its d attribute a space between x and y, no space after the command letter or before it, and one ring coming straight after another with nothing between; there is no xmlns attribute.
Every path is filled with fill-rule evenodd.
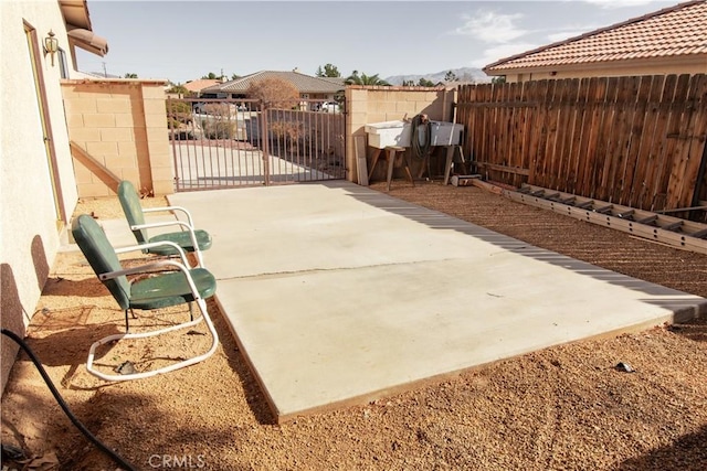
<svg viewBox="0 0 707 471"><path fill-rule="evenodd" d="M345 179L345 106L321 101L168 98L175 191Z"/></svg>

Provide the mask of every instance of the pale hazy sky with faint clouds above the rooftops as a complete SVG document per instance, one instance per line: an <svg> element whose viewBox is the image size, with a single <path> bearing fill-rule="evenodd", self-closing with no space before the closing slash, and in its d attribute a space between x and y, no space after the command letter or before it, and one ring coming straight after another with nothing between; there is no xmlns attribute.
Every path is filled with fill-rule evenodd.
<svg viewBox="0 0 707 471"><path fill-rule="evenodd" d="M677 4L665 0L88 0L101 57L78 69L175 84L210 72L315 75L333 64L381 78L482 68L500 58Z"/></svg>

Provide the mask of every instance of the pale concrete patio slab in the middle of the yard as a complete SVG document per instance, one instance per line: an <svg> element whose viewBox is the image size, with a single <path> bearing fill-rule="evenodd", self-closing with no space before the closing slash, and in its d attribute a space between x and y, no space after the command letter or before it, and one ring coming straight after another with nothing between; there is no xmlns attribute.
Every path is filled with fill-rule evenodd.
<svg viewBox="0 0 707 471"><path fill-rule="evenodd" d="M278 420L707 312L348 182L170 195L214 238L217 299Z"/></svg>

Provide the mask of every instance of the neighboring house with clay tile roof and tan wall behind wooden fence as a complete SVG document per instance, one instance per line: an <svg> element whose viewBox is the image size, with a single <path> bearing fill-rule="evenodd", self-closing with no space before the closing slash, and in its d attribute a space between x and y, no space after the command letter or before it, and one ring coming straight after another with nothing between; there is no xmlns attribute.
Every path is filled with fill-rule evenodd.
<svg viewBox="0 0 707 471"><path fill-rule="evenodd" d="M506 82L707 73L707 1L688 1L494 62Z"/></svg>

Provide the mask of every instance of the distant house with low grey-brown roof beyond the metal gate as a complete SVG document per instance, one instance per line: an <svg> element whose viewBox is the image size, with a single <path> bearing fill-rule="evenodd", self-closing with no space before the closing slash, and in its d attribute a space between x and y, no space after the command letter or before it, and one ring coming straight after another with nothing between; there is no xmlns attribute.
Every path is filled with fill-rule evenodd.
<svg viewBox="0 0 707 471"><path fill-rule="evenodd" d="M224 82L201 90L204 98L249 98L247 89L251 84L265 78L279 78L289 82L299 90L302 99L333 100L337 93L342 93L344 78L315 77L298 72L261 71L235 81Z"/></svg>

